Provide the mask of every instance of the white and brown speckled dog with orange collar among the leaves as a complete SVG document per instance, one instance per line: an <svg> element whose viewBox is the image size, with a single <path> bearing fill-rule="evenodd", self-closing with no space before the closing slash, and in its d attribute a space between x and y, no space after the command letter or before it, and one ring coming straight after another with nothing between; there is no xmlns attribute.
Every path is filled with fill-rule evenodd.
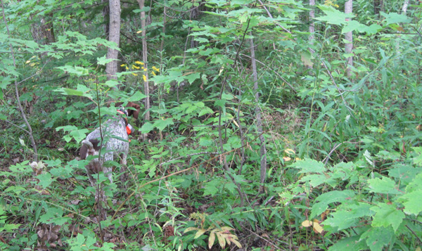
<svg viewBox="0 0 422 251"><path fill-rule="evenodd" d="M122 105L122 103L116 103L116 105ZM94 157L85 166L92 186L96 184L92 174L97 174L101 171L106 174L110 183L113 182L112 167L103 167L104 162L120 158L121 165L126 166L127 164L127 154L129 153L128 135L131 133L127 117L132 116L137 120L141 106L128 102L126 108L129 108L129 110L117 110L116 116L110 117L103 123L101 131L100 128L95 129L88 134L87 139L82 141L82 147L79 151L81 160L86 160L89 156L98 156L101 153L100 157Z"/></svg>

